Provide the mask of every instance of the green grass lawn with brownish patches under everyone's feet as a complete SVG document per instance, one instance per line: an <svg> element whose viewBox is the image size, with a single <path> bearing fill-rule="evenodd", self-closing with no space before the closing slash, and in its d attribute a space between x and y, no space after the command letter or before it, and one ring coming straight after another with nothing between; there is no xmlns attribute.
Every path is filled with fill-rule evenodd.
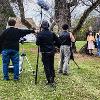
<svg viewBox="0 0 100 100"><path fill-rule="evenodd" d="M79 50L85 42L77 42ZM33 70L36 66L37 47L25 44L25 51ZM20 80L10 81L2 79L2 63L0 57L0 100L100 100L100 58L75 54L75 61L80 69L70 62L70 75L57 73L59 54L55 56L56 86L45 85L46 79L41 59L39 61L38 84L34 84L31 68L25 61Z"/></svg>

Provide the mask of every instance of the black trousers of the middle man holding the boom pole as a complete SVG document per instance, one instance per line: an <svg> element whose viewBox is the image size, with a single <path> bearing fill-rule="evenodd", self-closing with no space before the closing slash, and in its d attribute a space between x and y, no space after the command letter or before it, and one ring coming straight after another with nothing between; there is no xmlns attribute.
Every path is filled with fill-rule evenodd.
<svg viewBox="0 0 100 100"><path fill-rule="evenodd" d="M42 53L42 62L48 83L54 82L54 53Z"/></svg>

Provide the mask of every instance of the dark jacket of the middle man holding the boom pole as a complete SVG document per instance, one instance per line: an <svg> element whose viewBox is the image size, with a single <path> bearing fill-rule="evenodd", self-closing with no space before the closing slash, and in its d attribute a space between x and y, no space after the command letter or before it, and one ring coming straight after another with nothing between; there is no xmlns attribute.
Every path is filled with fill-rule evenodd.
<svg viewBox="0 0 100 100"><path fill-rule="evenodd" d="M40 46L41 52L54 52L55 46L60 47L60 39L48 29L38 33L36 44Z"/></svg>

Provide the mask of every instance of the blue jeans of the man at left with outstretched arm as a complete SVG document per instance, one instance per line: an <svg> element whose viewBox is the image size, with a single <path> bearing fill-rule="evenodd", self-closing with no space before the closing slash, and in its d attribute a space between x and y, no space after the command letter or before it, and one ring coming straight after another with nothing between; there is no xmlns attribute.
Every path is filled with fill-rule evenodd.
<svg viewBox="0 0 100 100"><path fill-rule="evenodd" d="M4 79L9 79L8 66L10 63L10 59L14 66L14 79L19 79L19 52L12 49L5 49L2 51Z"/></svg>

